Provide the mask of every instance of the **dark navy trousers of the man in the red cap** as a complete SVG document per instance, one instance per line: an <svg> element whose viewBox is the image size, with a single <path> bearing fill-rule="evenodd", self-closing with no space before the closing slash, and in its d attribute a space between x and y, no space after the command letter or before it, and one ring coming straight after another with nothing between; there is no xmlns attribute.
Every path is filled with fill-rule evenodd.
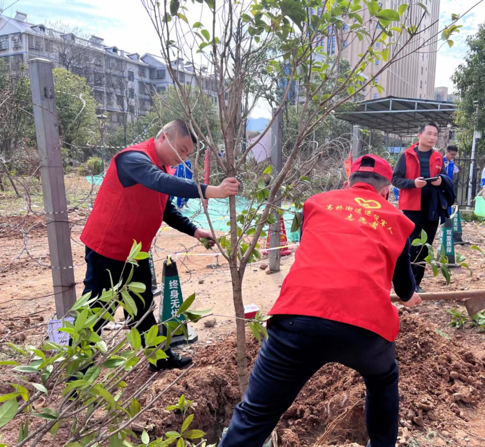
<svg viewBox="0 0 485 447"><path fill-rule="evenodd" d="M305 383L330 362L364 378L372 447L395 447L399 373L393 342L356 326L297 315L276 315L268 333L219 447L261 447Z"/></svg>

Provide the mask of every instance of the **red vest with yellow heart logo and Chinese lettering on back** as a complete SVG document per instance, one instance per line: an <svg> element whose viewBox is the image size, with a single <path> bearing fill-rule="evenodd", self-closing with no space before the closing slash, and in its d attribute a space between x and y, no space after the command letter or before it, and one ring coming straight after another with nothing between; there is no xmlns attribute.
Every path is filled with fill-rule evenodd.
<svg viewBox="0 0 485 447"><path fill-rule="evenodd" d="M366 183L317 194L303 210L300 247L270 314L318 316L393 341L392 275L414 224Z"/></svg>

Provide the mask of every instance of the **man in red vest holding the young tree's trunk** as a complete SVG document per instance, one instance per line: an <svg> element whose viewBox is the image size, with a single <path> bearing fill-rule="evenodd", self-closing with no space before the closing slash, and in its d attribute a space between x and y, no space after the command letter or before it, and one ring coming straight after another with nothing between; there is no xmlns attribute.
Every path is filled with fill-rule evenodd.
<svg viewBox="0 0 485 447"><path fill-rule="evenodd" d="M148 251L162 221L197 239L212 239L210 232L196 228L167 200L168 196L200 197L195 182L171 175L170 169L187 159L196 142L187 125L176 120L166 124L156 138L126 148L113 157L81 234L81 241L86 245L87 263L83 294L91 292L92 297L96 297L103 289L110 289L108 271L115 283L122 272L126 281L130 269L124 269L124 265L133 240L141 242L142 250ZM219 186L201 184L200 188L206 199L224 199L236 195L238 185L236 179L229 178ZM146 291L141 294L145 303L131 295L138 310L135 324L153 302L148 259L138 261L131 281L146 285ZM128 316L126 312L125 316ZM95 329L99 330L105 323L103 321ZM156 324L152 312L137 329L143 333ZM150 369L181 368L192 362L190 357L180 357L170 349L167 354L168 359L159 360L157 366L150 364Z"/></svg>

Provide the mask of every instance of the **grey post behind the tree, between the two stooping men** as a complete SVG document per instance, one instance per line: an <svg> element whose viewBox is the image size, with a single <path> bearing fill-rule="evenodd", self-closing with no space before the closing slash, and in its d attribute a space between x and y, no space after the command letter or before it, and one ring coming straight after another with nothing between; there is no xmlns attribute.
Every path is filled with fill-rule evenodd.
<svg viewBox="0 0 485 447"><path fill-rule="evenodd" d="M276 114L276 109L273 109L273 115ZM273 125L271 126L271 165L273 166L273 178L281 172L283 165L283 110L280 110L276 115ZM275 203L276 206L281 205L281 202ZM280 246L281 221L279 214L276 214L276 222L270 226L270 248ZM272 272L279 272L280 261L279 250L269 251L269 266Z"/></svg>

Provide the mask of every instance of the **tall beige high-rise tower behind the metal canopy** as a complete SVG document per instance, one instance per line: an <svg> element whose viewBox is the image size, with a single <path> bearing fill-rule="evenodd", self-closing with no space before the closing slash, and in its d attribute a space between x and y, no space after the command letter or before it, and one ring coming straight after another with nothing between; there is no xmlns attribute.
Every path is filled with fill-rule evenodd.
<svg viewBox="0 0 485 447"><path fill-rule="evenodd" d="M397 10L403 3L408 3L406 0L382 0L379 1L379 6L384 9ZM422 4L426 6L429 14L424 17L421 24L422 27L429 27L424 33L420 34L419 39L415 39L412 45L408 46L403 54L410 53L405 58L398 60L394 64L388 67L383 73L378 75L376 83L384 87L384 91L379 93L375 87L367 87L362 99L378 99L387 96L396 96L404 98L417 98L417 99L434 99L435 98L435 75L436 75L436 39L431 39L430 45L428 41L437 33L439 17L439 0L423 0ZM421 16L423 15L423 9L417 5L413 6L409 14L408 20L411 23L419 23ZM367 10L363 13L364 23L370 19ZM371 22L372 31L375 28L379 28L378 23L374 20ZM407 33L401 35L394 33L394 37L390 38L391 41L397 41L397 45L390 47L390 57L396 53L409 37ZM335 30L330 32L328 36L324 36L319 45L323 46L323 50L329 56L335 56L341 54L350 61L351 66L356 66L360 57L359 54L364 53L369 47L369 41L366 37L362 41L357 38L353 40L346 40L349 35L348 25L344 26L342 30ZM353 36L353 34L350 34ZM426 46L421 50L418 47L421 44ZM376 43L374 50L379 50L382 44ZM364 71L364 78L370 79L382 68L382 64L385 62L376 60L375 64L370 64Z"/></svg>

